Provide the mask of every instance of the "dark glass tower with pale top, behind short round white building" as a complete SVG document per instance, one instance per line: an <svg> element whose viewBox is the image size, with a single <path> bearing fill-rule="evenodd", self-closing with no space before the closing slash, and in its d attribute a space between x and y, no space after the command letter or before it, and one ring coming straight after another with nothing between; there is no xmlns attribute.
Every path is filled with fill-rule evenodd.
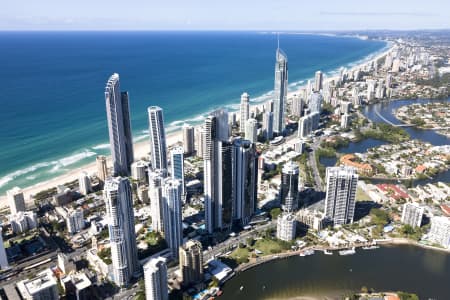
<svg viewBox="0 0 450 300"><path fill-rule="evenodd" d="M284 211L292 212L298 208L298 165L287 162L281 170L280 203Z"/></svg>

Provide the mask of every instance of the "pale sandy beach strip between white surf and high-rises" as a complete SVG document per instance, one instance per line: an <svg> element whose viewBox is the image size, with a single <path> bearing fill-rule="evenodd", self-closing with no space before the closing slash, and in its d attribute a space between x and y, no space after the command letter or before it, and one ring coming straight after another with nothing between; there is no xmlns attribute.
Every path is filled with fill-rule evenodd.
<svg viewBox="0 0 450 300"><path fill-rule="evenodd" d="M351 69L349 69L349 71L352 70L356 70L359 68L362 68L363 66L366 66L367 64L371 64L374 61L377 61L378 59L380 59L381 57L385 56L387 53L389 53L392 50L392 47L390 47L389 49L387 49L386 51L383 51L382 53L376 55L375 57L368 59L366 61L361 62L359 65L356 65L354 67L352 67ZM324 80L326 82L330 82L330 81L336 81L339 79L339 76L332 76L332 77L326 77ZM303 89L306 85L300 86L297 90L295 91L290 91L288 93L288 99L292 98L296 93L298 93L301 89ZM255 104L252 106L260 106L262 105L262 103L259 104ZM170 134L166 135L166 139L167 139L167 146L170 148L171 146L173 146L174 144L178 143L178 142L182 142L182 131L181 129L176 131L176 132L172 132ZM134 144L134 157L136 160L145 157L148 155L149 153L149 141L145 140L145 141L141 141L138 143ZM108 167L111 166L111 157L108 157ZM26 187L23 188L23 192L24 192L24 196L25 196L25 200L27 203L32 203L32 199L31 196L34 194L37 194L40 191L43 190L47 190L50 189L52 187L56 187L58 185L64 184L66 182L70 182L73 180L76 180L79 176L79 174L85 171L87 172L89 175L95 174L97 172L97 168L96 168L96 163L95 163L95 158L93 158L92 163L89 163L83 167L71 170L70 172L58 176L54 179L48 180L48 181L44 181L38 184L35 184L33 186L30 187ZM0 196L0 208L3 208L7 206L7 201L6 201L6 195L1 195Z"/></svg>

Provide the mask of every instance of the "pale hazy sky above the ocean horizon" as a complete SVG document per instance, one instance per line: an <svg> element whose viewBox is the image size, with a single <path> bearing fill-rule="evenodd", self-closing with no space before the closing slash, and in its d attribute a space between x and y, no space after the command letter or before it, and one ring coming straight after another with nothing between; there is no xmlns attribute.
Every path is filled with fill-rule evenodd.
<svg viewBox="0 0 450 300"><path fill-rule="evenodd" d="M436 28L449 0L0 0L0 30Z"/></svg>

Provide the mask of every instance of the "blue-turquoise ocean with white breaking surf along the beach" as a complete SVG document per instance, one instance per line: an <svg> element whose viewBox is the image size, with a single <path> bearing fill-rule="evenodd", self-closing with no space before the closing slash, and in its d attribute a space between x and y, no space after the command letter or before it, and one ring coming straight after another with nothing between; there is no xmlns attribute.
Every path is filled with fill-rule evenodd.
<svg viewBox="0 0 450 300"><path fill-rule="evenodd" d="M381 41L283 34L290 88L386 47ZM130 94L135 141L146 108L166 128L198 123L240 95L270 98L276 35L260 32L0 32L0 195L107 154L104 86L114 72Z"/></svg>

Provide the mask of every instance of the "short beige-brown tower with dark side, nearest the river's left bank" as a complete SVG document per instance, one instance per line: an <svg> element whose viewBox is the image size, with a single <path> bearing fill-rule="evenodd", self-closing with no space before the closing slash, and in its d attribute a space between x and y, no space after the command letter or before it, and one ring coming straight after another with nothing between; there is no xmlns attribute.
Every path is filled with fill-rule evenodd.
<svg viewBox="0 0 450 300"><path fill-rule="evenodd" d="M202 243L197 240L189 240L180 247L180 272L183 285L203 280L203 250Z"/></svg>

